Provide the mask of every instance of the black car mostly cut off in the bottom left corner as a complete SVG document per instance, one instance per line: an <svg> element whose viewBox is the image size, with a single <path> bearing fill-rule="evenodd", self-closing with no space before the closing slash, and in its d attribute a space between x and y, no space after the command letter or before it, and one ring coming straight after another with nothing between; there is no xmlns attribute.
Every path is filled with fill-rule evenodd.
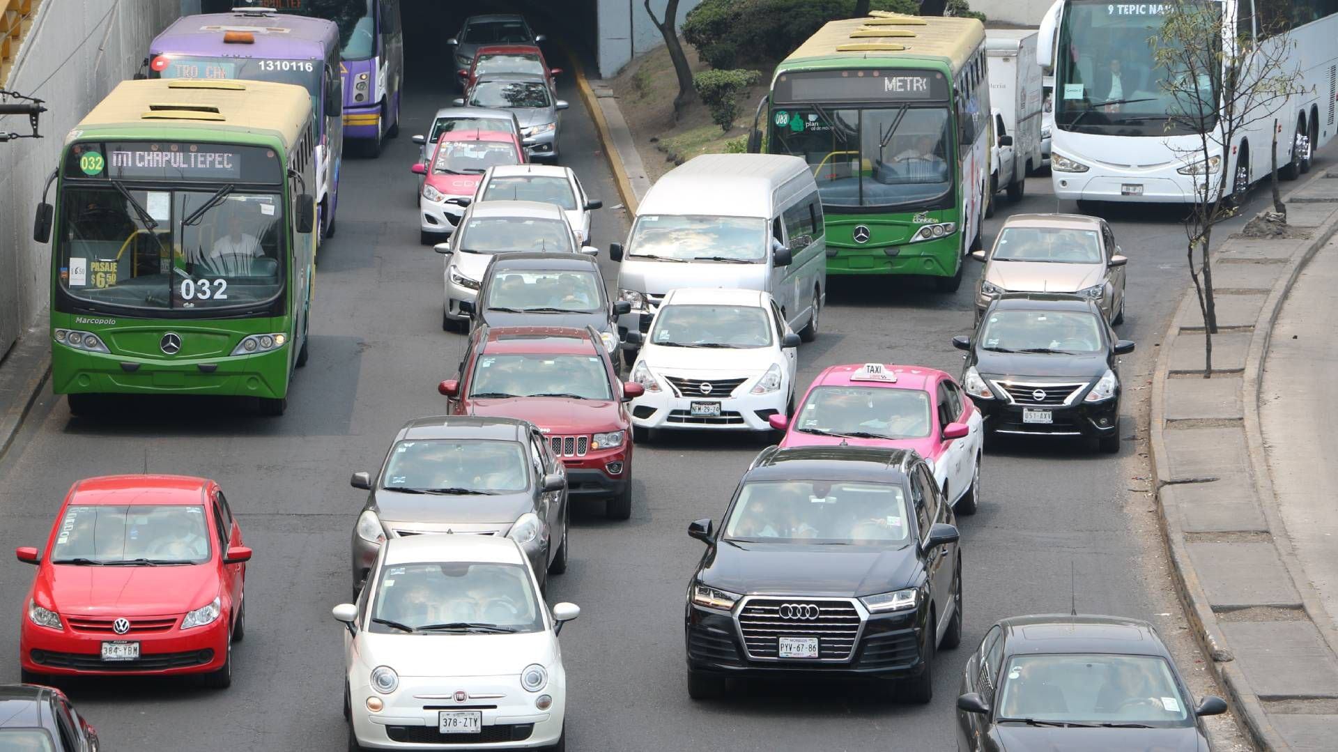
<svg viewBox="0 0 1338 752"><path fill-rule="evenodd" d="M35 684L0 685L0 749L98 752L98 732L64 692Z"/></svg>

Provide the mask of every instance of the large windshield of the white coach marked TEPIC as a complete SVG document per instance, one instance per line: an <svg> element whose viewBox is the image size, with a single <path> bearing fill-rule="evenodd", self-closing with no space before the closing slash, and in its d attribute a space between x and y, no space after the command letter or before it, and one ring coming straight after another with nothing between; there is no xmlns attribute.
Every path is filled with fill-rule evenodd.
<svg viewBox="0 0 1338 752"><path fill-rule="evenodd" d="M1220 1L1195 4L1222 12ZM1068 131L1133 136L1214 128L1220 72L1198 72L1191 80L1185 71L1157 66L1149 39L1160 35L1172 4L1137 5L1137 13L1124 12L1128 7L1105 0L1069 1L1056 51L1054 124ZM1214 40L1212 55L1202 59L1216 59L1220 48L1222 40Z"/></svg>

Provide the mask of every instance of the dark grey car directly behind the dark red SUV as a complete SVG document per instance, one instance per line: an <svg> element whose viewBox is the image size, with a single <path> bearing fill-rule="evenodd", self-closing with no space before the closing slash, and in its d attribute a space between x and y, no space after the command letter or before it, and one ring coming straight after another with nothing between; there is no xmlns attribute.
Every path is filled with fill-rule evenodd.
<svg viewBox="0 0 1338 752"><path fill-rule="evenodd" d="M495 257L478 298L460 308L472 326L594 326L617 367L618 316L632 304L609 300L594 257L527 252Z"/></svg>

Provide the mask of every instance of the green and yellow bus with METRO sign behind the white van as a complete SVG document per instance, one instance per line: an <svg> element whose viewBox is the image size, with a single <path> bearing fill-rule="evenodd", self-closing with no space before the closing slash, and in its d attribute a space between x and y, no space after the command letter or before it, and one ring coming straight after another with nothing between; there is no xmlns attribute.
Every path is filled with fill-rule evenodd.
<svg viewBox="0 0 1338 752"><path fill-rule="evenodd" d="M831 21L777 67L749 151L803 157L828 274L921 274L957 290L979 248L991 143L985 27L875 12Z"/></svg>

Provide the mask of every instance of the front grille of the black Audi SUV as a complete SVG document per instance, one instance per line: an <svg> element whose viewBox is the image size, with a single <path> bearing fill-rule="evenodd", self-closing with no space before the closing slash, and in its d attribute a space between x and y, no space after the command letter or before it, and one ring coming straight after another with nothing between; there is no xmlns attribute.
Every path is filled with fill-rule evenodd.
<svg viewBox="0 0 1338 752"><path fill-rule="evenodd" d="M815 605L818 618L793 620L780 616L780 606ZM749 658L779 658L779 637L816 637L818 657L826 661L850 660L863 626L855 603L831 598L752 598L739 612L739 629Z"/></svg>

